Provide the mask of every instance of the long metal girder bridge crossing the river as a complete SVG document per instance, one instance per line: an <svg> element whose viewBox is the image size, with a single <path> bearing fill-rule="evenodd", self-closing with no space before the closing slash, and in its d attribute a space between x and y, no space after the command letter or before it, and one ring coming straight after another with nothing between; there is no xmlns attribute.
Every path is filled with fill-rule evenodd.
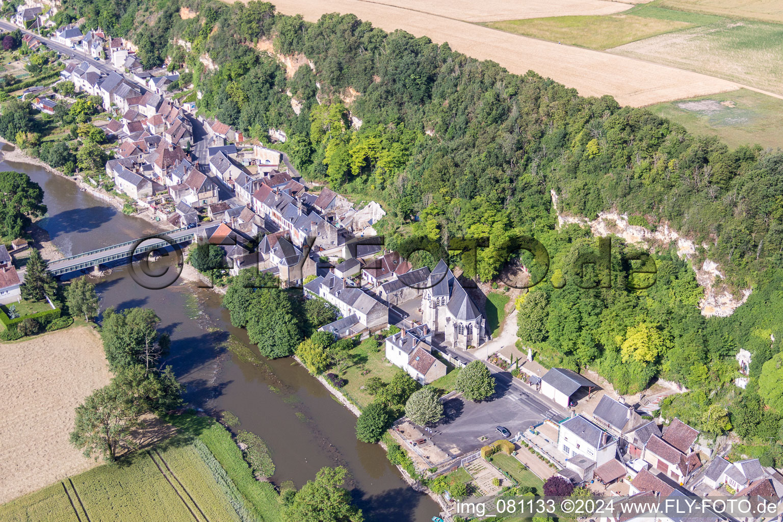
<svg viewBox="0 0 783 522"><path fill-rule="evenodd" d="M111 247L91 250L84 254L65 257L56 261L49 261L47 268L53 275L63 275L77 270L83 270L93 266L103 265L111 261L129 262L136 254L143 254L151 250L166 249L175 244L189 243L196 237L196 228L176 229L162 232L154 236L146 236L133 241L117 243Z"/></svg>

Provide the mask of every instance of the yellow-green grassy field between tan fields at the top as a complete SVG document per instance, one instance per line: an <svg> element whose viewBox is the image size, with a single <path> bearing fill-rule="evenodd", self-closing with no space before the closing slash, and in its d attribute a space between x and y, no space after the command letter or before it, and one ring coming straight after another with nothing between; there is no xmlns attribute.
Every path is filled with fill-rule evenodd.
<svg viewBox="0 0 783 522"><path fill-rule="evenodd" d="M533 38L603 50L718 20L718 16L684 13L645 4L614 15L550 16L490 22L486 25Z"/></svg>

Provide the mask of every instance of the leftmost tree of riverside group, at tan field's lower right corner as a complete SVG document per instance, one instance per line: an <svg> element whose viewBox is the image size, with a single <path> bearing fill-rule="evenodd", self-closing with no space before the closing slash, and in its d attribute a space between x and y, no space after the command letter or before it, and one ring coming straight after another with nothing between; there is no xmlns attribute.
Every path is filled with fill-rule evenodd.
<svg viewBox="0 0 783 522"><path fill-rule="evenodd" d="M85 457L103 456L107 462L117 459L121 450L132 450L136 443L132 432L142 426L141 411L128 401L127 390L114 383L93 391L76 408L70 442L83 450Z"/></svg>

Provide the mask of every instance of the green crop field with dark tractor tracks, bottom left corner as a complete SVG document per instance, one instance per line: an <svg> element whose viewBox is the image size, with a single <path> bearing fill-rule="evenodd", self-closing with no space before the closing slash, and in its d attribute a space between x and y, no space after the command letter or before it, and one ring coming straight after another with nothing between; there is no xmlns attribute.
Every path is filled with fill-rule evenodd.
<svg viewBox="0 0 783 522"><path fill-rule="evenodd" d="M194 519L240 520L195 445L139 452L124 466L100 466L0 506L9 522Z"/></svg>

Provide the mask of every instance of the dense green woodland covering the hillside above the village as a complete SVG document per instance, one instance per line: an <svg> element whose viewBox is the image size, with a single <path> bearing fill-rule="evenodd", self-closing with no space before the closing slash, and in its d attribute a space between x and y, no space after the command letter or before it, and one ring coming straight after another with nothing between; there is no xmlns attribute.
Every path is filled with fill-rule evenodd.
<svg viewBox="0 0 783 522"><path fill-rule="evenodd" d="M60 21L84 17L83 29L131 38L146 67L181 70L175 87L192 83L203 94L201 113L263 142L270 128L285 131L287 141L275 146L303 175L384 203L379 228L391 246L408 236L489 236L475 275L490 281L517 255L513 239L535 236L549 250L550 272L521 303L520 335L543 362L597 369L623 393L663 376L691 390L666 401L664 416L708 434L733 426L750 442L779 438L783 333L770 335L783 324L780 151L730 150L611 96L583 98L533 72L509 74L352 15L305 23L262 2L63 5ZM182 20L183 6L198 16ZM312 68L303 59L287 77L276 56L256 50L258 41L277 55L304 56ZM217 70L202 63L205 55ZM301 103L298 115L287 92ZM619 241L611 288L568 283L568 267L596 239L576 225L556 229L550 190L561 211L594 217L616 209L634 225L676 229L702 245L695 262L719 261L726 283L752 286L751 297L729 318L705 319L691 265L667 250L655 254L655 285L628 290L630 248ZM461 268L474 275L470 263ZM298 337L290 337L293 345ZM745 391L732 383L739 348L753 354ZM780 448L765 450L765 459L783 462Z"/></svg>

